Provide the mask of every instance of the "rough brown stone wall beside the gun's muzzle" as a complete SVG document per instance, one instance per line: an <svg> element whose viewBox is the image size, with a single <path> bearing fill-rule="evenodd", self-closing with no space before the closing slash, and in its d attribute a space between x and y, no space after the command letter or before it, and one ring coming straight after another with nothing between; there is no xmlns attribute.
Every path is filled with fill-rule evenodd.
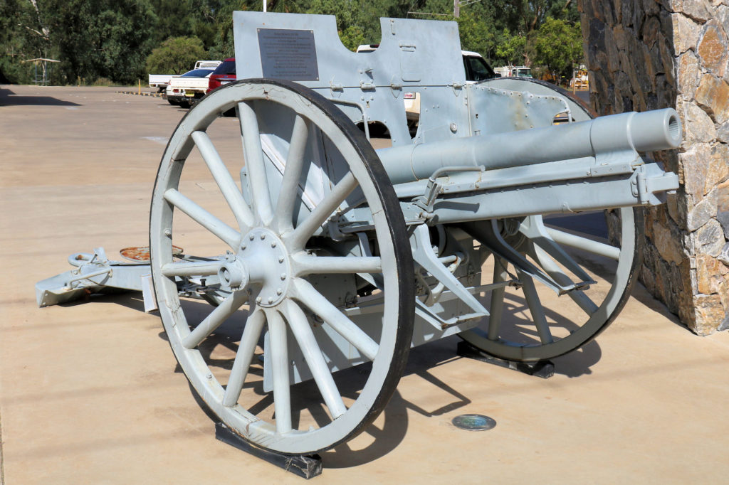
<svg viewBox="0 0 729 485"><path fill-rule="evenodd" d="M678 151L647 154L679 174L645 210L641 280L700 335L729 328L729 0L582 0L598 114L673 107Z"/></svg>

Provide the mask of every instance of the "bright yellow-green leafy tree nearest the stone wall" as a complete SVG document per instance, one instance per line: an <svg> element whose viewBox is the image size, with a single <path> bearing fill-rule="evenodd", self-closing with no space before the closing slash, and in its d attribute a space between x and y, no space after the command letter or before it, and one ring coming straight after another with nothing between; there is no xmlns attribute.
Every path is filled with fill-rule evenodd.
<svg viewBox="0 0 729 485"><path fill-rule="evenodd" d="M534 62L547 66L556 76L572 76L572 67L582 60L580 23L547 17L534 38Z"/></svg>

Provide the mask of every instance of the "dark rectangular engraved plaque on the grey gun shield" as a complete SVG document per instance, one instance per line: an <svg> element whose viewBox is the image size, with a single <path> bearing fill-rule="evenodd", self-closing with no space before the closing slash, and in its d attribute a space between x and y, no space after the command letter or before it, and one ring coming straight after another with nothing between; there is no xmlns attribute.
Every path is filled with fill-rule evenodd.
<svg viewBox="0 0 729 485"><path fill-rule="evenodd" d="M313 31L259 28L258 48L263 77L319 81Z"/></svg>

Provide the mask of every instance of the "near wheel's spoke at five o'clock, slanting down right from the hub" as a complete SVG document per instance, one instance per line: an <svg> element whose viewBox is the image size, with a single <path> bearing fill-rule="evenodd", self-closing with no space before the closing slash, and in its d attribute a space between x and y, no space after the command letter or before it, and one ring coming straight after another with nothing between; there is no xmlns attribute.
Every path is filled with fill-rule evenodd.
<svg viewBox="0 0 729 485"><path fill-rule="evenodd" d="M289 321L289 328L291 328L296 342L299 344L299 348L306 360L306 365L308 365L314 382L316 382L316 387L319 387L321 397L324 398L324 403L327 404L327 408L329 408L332 414L332 419L337 419L347 411L347 408L344 406L342 396L337 389L329 366L327 366L327 361L324 360L324 355L322 355L319 349L319 344L316 342L313 331L311 331L311 326L309 326L306 315L291 300L286 301L284 309L284 316Z"/></svg>

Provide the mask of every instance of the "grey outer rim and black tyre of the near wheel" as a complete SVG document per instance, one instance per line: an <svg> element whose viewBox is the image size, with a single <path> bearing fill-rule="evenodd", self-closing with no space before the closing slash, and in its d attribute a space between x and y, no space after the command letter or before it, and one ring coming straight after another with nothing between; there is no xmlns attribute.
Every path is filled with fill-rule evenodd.
<svg viewBox="0 0 729 485"><path fill-rule="evenodd" d="M192 132L204 130L241 100L254 99L288 106L327 135L337 131L343 133L347 143L335 144L346 159L354 159L350 170L373 210L380 245L386 298L382 336L372 371L354 404L344 414L316 430L292 430L281 434L276 431L275 425L262 422L239 404L233 407L222 404L225 391L216 379L207 377L210 371L200 352L182 345L187 322L179 306L176 286L162 274L161 269L172 262L171 237L165 237L165 229L171 226L173 205L165 200L165 192L176 188L184 159L192 149ZM216 90L191 109L171 137L160 163L150 211L150 248L152 277L165 331L187 379L211 411L246 440L262 448L288 454L329 449L361 432L389 401L407 360L413 326L413 295L410 285L403 283L409 278L402 275L412 274L412 260L409 251L403 251L407 245L397 244L405 237L405 223L397 197L374 150L338 109L315 92L289 82L248 79Z"/></svg>

